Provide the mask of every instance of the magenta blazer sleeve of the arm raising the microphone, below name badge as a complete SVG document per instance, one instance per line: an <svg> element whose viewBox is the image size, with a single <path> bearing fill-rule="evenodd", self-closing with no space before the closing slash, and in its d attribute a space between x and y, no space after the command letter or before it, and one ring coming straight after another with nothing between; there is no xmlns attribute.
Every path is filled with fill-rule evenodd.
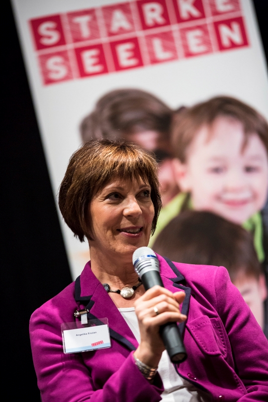
<svg viewBox="0 0 268 402"><path fill-rule="evenodd" d="M134 363L133 353L128 355L102 389L96 389L98 387L94 386L81 353L63 353L62 321L58 316L58 312L42 306L33 313L30 320L33 361L42 402L161 400L163 386L159 374L155 376L153 384L150 384Z"/></svg>

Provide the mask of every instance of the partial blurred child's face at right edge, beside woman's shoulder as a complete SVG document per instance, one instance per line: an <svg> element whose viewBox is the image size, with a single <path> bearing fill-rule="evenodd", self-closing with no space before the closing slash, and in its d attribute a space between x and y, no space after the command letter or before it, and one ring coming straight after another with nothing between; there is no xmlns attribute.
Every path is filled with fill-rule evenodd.
<svg viewBox="0 0 268 402"><path fill-rule="evenodd" d="M233 284L240 291L243 299L250 308L257 323L264 329L264 305L263 302L267 297L267 288L265 285L264 275L260 275L259 279L254 276L248 276L244 272L239 272Z"/></svg>

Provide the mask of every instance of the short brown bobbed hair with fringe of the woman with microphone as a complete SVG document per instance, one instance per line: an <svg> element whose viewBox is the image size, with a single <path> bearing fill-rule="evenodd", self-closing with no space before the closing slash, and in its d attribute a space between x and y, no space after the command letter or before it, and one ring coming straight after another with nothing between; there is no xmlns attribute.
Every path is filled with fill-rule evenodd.
<svg viewBox="0 0 268 402"><path fill-rule="evenodd" d="M93 196L116 177L148 180L154 206L154 232L161 209L155 159L138 145L92 140L71 156L58 194L59 209L64 221L81 242L84 237L93 240L88 205Z"/></svg>

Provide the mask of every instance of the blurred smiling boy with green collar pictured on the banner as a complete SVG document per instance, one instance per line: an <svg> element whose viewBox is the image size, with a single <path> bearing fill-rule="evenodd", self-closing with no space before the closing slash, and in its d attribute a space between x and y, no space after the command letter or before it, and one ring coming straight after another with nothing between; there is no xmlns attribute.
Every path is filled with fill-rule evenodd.
<svg viewBox="0 0 268 402"><path fill-rule="evenodd" d="M260 211L268 191L265 119L238 99L217 96L175 116L172 142L181 193L162 209L150 245L180 212L210 211L250 231L263 262Z"/></svg>

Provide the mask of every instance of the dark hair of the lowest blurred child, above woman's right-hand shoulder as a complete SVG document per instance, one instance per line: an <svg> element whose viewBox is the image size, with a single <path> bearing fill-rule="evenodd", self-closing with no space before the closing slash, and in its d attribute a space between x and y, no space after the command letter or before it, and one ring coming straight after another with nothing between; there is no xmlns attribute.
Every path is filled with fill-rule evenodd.
<svg viewBox="0 0 268 402"><path fill-rule="evenodd" d="M153 249L176 262L225 266L232 281L241 271L256 279L262 273L251 234L206 211L179 214L158 235Z"/></svg>

